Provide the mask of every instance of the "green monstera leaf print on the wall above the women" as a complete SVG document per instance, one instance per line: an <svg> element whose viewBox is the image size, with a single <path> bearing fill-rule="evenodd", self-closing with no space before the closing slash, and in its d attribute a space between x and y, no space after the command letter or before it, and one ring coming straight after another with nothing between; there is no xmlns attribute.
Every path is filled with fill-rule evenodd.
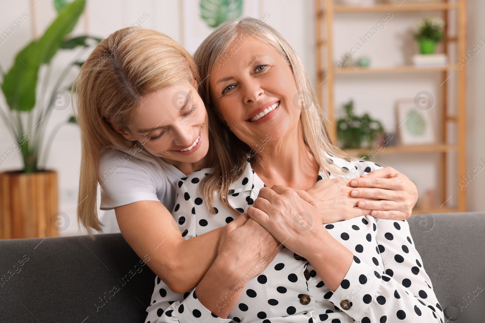
<svg viewBox="0 0 485 323"><path fill-rule="evenodd" d="M242 15L242 0L200 0L200 16L209 27Z"/></svg>

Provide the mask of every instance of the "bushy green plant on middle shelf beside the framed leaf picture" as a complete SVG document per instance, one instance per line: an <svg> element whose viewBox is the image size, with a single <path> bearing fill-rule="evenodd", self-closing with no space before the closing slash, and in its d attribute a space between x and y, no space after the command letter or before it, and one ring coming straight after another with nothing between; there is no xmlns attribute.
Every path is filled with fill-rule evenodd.
<svg viewBox="0 0 485 323"><path fill-rule="evenodd" d="M354 101L344 105L345 117L337 121L337 135L341 141L340 147L371 148L379 135L384 133L384 127L378 120L373 120L369 114L362 116L354 114Z"/></svg>

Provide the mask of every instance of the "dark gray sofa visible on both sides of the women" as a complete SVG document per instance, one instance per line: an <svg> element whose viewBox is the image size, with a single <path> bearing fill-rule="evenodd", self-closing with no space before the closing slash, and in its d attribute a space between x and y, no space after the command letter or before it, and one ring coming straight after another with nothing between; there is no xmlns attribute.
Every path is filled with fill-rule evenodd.
<svg viewBox="0 0 485 323"><path fill-rule="evenodd" d="M446 320L484 322L485 213L408 221ZM119 233L0 240L0 322L143 323L155 275L140 261Z"/></svg>

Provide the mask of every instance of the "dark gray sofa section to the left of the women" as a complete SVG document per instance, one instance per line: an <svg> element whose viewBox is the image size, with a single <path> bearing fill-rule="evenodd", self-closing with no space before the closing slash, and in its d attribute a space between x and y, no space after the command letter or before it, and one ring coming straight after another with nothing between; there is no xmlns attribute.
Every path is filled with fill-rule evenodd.
<svg viewBox="0 0 485 323"><path fill-rule="evenodd" d="M0 250L2 323L145 321L155 274L120 233L0 240Z"/></svg>

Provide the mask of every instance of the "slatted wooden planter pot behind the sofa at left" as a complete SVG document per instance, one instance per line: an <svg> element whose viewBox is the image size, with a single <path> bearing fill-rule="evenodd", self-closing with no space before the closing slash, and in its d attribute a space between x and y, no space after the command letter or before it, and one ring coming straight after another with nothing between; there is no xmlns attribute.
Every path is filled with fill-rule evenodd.
<svg viewBox="0 0 485 323"><path fill-rule="evenodd" d="M59 236L57 212L57 172L0 173L0 239Z"/></svg>

